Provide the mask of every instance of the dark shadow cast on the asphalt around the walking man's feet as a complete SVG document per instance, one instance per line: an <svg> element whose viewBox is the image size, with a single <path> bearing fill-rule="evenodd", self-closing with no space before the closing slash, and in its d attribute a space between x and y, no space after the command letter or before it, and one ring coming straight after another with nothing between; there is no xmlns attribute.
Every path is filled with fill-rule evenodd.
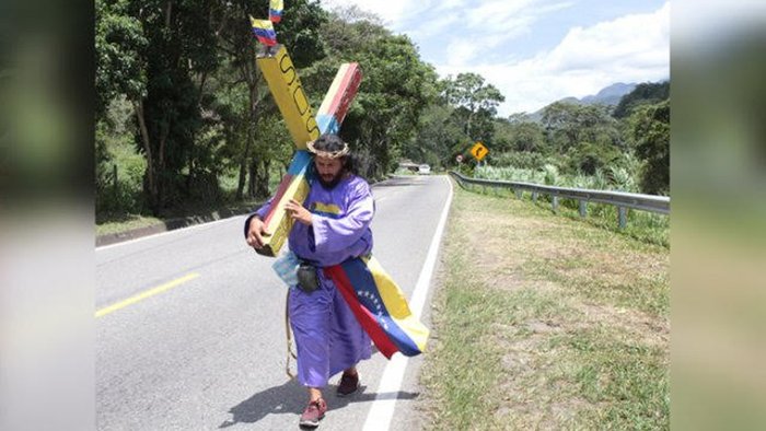
<svg viewBox="0 0 766 431"><path fill-rule="evenodd" d="M335 395L336 385L328 385L324 391L327 400L328 411L337 410L351 403L369 403L375 400L378 394L365 393L367 386L362 385L359 393L350 397L338 397ZM395 392L381 394L382 399L414 399L420 394L411 392ZM218 428L229 428L237 423L255 423L267 415L295 415L303 412L307 400L306 389L295 380L286 382L281 386L274 386L259 392L236 406L229 409L232 415Z"/></svg>

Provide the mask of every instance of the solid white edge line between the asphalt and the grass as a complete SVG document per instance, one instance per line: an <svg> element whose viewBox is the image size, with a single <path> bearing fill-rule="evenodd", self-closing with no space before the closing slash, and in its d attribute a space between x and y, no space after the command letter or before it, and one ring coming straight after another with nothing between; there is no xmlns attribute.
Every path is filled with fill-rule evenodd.
<svg viewBox="0 0 766 431"><path fill-rule="evenodd" d="M420 270L420 276L418 277L415 291L409 301L411 312L418 317L422 314L422 307L426 305L426 296L428 295L428 289L431 284L433 268L437 265L439 243L444 233L446 215L450 212L450 205L452 203L452 182L450 182L449 178L446 178L446 182L450 184L450 195L444 203L441 219L439 219L439 224L437 225L437 232L433 234L431 245L428 249L428 256L426 256L426 263L422 266L422 270ZM364 421L364 431L387 430L391 427L391 419L394 416L394 408L396 407L396 397L391 397L391 394L396 394L402 389L402 381L404 380L404 372L407 369L408 360L409 358L402 353L395 353L385 365L381 383L378 386L378 396L372 403L370 412Z"/></svg>

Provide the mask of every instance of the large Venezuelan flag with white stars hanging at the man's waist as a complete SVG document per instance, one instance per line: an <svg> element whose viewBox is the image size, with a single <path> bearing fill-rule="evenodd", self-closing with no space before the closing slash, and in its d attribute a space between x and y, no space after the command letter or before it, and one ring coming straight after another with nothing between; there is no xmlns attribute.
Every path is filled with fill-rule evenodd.
<svg viewBox="0 0 766 431"><path fill-rule="evenodd" d="M324 271L383 356L423 352L428 328L413 315L404 293L374 257L349 259Z"/></svg>

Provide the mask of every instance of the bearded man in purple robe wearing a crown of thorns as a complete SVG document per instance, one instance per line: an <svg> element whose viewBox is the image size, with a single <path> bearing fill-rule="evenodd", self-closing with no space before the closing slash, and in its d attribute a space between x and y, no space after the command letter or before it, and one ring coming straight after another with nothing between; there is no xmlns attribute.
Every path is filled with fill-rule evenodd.
<svg viewBox="0 0 766 431"><path fill-rule="evenodd" d="M286 210L295 221L289 236L290 252L302 263L298 286L290 288L289 318L298 348L298 381L309 389L302 427L317 427L327 410L322 389L343 371L338 396L359 388L357 363L369 359L371 340L334 281L322 268L339 265L372 251L370 222L374 201L370 185L353 174L348 144L335 135L309 143L315 177L303 202L291 200ZM271 200L245 222L247 244L264 245L263 220Z"/></svg>

